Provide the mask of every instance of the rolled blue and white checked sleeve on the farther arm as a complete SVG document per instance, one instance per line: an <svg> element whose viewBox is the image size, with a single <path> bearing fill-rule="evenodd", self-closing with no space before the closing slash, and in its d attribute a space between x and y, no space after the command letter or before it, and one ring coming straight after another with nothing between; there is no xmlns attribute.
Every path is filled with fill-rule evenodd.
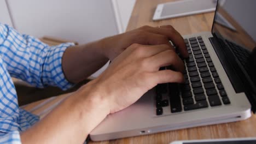
<svg viewBox="0 0 256 144"><path fill-rule="evenodd" d="M65 79L61 66L63 52L73 43L49 46L1 24L0 31L0 55L11 76L39 88L50 85L66 90L73 86Z"/></svg>

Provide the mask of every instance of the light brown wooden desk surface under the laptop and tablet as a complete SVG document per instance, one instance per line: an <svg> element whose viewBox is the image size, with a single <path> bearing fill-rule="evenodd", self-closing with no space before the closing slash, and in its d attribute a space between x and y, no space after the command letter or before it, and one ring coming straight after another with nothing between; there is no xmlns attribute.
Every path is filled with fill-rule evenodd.
<svg viewBox="0 0 256 144"><path fill-rule="evenodd" d="M211 31L213 13L199 14L193 16L179 17L162 21L152 21L154 10L158 3L167 2L166 0L137 0L133 9L127 31L138 28L143 25L160 26L172 25L181 34L190 34L202 31ZM49 111L48 107L55 105L60 100L67 97L50 98L50 100L41 100L36 103L24 106L24 109L31 111L44 117ZM39 105L39 106L38 106ZM41 106L40 106L41 105ZM110 140L103 142L90 143L170 143L174 140L192 140L192 139L217 139L227 137L252 137L256 136L256 116L241 121L217 125L209 125L205 127L196 127L189 129L173 130L164 133L128 137L119 140Z"/></svg>

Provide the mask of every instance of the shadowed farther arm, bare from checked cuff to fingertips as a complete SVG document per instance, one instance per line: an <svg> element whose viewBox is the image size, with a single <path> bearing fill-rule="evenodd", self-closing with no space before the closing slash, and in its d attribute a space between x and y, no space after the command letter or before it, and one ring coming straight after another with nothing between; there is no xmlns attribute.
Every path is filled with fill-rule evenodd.
<svg viewBox="0 0 256 144"><path fill-rule="evenodd" d="M170 40L182 56L188 57L184 40L172 26L143 26L130 32L104 38L92 43L69 47L62 57L62 68L66 78L73 83L83 81L107 63L113 61L132 44L169 46Z"/></svg>

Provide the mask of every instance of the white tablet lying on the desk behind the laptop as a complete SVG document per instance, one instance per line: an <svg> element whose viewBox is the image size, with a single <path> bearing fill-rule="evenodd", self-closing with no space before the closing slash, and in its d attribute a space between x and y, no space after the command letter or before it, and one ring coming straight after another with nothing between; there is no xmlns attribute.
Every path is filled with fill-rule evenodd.
<svg viewBox="0 0 256 144"><path fill-rule="evenodd" d="M158 4L153 20L207 13L216 10L217 0L182 0Z"/></svg>

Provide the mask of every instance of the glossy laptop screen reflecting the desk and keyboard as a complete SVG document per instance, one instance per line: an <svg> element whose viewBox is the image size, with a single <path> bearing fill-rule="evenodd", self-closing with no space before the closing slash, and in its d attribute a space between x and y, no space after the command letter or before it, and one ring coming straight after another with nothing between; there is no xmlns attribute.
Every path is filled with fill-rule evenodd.
<svg viewBox="0 0 256 144"><path fill-rule="evenodd" d="M249 95L254 97L256 103L255 5L256 1L252 0L219 0L212 34L218 38L221 49L228 53L226 55L234 55L234 59L228 61L232 61L233 67L241 68L240 79L246 80L244 84L249 83L251 89L247 89L247 92L251 93Z"/></svg>

